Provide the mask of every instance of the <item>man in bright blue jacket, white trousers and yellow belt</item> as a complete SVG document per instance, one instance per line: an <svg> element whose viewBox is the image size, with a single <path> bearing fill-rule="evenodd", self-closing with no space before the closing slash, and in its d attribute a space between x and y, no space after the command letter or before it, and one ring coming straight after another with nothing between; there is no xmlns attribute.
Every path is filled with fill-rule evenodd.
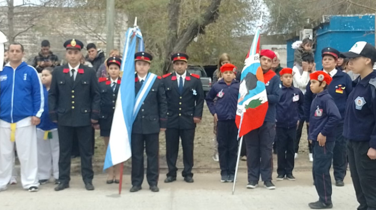
<svg viewBox="0 0 376 210"><path fill-rule="evenodd" d="M38 191L37 128L44 108L44 94L37 70L22 61L24 47L9 46L10 62L0 69L0 191L12 176L16 141L22 186Z"/></svg>

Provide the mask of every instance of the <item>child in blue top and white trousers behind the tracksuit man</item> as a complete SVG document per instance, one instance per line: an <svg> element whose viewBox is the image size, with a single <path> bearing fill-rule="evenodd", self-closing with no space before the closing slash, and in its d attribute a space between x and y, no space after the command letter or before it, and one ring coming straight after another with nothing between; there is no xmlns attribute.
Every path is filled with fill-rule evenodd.
<svg viewBox="0 0 376 210"><path fill-rule="evenodd" d="M48 113L48 90L52 80L52 67L42 70L42 83L45 95L44 112L41 116L41 123L37 125L37 146L38 146L38 179L39 183L46 183L51 174L55 183L59 182L59 136L58 126L52 122Z"/></svg>

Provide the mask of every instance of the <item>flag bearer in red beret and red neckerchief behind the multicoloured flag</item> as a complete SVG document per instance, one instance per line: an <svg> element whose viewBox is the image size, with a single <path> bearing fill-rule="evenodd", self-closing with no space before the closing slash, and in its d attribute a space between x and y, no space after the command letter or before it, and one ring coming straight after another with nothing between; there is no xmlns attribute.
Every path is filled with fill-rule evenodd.
<svg viewBox="0 0 376 210"><path fill-rule="evenodd" d="M281 80L271 70L273 60L277 56L272 50L260 52L260 65L264 73L265 89L268 97L268 110L261 127L244 135L247 147L248 184L247 188L256 188L260 179L267 189L275 189L272 182L273 173L273 141L275 138L276 105L279 102Z"/></svg>

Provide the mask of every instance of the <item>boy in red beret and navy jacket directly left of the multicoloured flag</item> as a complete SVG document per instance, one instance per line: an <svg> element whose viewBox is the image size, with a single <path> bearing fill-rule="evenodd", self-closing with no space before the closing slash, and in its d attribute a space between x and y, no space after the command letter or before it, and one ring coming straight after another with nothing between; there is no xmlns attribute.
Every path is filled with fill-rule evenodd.
<svg viewBox="0 0 376 210"><path fill-rule="evenodd" d="M222 79L210 89L206 99L210 112L217 120L217 140L221 181L232 182L238 150L238 128L235 123L238 104L239 82L235 80L236 67L226 63L220 68ZM217 101L214 104L214 98Z"/></svg>

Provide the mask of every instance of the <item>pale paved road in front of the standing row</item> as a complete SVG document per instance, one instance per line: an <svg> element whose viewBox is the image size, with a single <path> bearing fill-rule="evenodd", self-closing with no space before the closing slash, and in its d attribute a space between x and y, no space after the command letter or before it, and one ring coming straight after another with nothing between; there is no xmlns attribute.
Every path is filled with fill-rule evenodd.
<svg viewBox="0 0 376 210"><path fill-rule="evenodd" d="M231 194L232 183L221 183L219 173L196 173L194 183L186 183L182 177L172 183L163 183L164 174L161 173L159 192L151 192L144 180L143 189L132 193L129 192L130 175L124 175L120 196L118 185L106 184L104 174L95 176L94 191L86 191L81 176L74 175L71 187L59 192L53 190L53 183L42 185L38 192L23 190L20 183L9 186L0 192L0 209L309 209L307 203L318 198L311 172L296 171L294 175L296 181L274 181L275 190L262 185L247 189L246 170L241 170L234 195ZM333 208L356 209L354 194L351 179L346 176L345 186L333 185Z"/></svg>

